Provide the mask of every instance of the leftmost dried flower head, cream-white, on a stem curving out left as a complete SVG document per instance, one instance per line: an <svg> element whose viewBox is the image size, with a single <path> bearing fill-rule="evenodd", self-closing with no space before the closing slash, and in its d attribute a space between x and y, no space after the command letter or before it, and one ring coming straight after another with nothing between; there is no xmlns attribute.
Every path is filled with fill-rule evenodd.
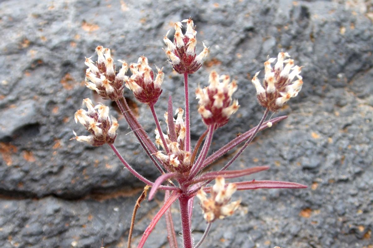
<svg viewBox="0 0 373 248"><path fill-rule="evenodd" d="M93 146L101 146L105 143L113 144L116 138L116 130L119 124L113 116L109 118L109 107L103 104L93 106L89 98L83 100L83 105L87 106L88 111L79 109L75 112L75 122L84 125L91 135L77 136L73 131L75 138L79 142L87 142Z"/></svg>

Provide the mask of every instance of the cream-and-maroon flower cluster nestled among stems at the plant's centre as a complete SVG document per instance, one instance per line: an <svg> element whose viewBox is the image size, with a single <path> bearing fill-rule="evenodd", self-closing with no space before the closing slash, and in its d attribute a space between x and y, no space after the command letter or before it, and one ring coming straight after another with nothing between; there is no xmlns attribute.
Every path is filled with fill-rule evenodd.
<svg viewBox="0 0 373 248"><path fill-rule="evenodd" d="M169 166L169 171L187 172L190 169L190 152L184 150L184 139L185 139L185 124L183 119L184 110L182 108L176 109L175 114L178 115L176 120L173 118L173 127L170 127L170 118L167 112L164 114L164 118L167 123L167 134L163 134L167 147L170 150L170 154L165 155L163 152L158 151L156 156L161 159L166 166ZM160 133L158 129L154 131L156 133L156 144L163 146L162 140L160 139Z"/></svg>

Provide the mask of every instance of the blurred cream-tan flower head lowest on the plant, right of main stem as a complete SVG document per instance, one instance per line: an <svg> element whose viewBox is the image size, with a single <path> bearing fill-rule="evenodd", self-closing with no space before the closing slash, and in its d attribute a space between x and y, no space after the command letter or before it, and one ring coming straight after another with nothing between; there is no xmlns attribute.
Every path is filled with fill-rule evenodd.
<svg viewBox="0 0 373 248"><path fill-rule="evenodd" d="M232 194L236 190L236 184L228 184L225 187L225 179L221 176L215 179L210 198L207 198L207 194L203 189L199 190L197 197L201 201L204 219L211 223L216 219L224 219L227 216L231 216L241 203L240 200L230 202Z"/></svg>

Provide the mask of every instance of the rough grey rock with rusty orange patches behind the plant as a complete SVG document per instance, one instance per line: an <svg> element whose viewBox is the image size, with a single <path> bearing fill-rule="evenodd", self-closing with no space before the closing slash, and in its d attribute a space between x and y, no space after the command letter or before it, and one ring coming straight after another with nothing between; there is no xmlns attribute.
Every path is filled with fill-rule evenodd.
<svg viewBox="0 0 373 248"><path fill-rule="evenodd" d="M172 22L189 16L197 25L197 52L201 41L210 46L204 67L189 77L191 91L207 84L212 69L239 82L241 108L217 132L214 149L260 119L250 79L267 55L285 50L305 66L303 90L279 113L289 118L261 133L232 168L270 165L255 178L309 188L236 193L241 210L216 222L204 247L373 247L369 0L0 1L1 247L100 247L102 238L106 248L126 246L142 184L123 170L110 147L69 141L72 129L85 135L73 113L82 98L95 97L84 87L84 57L103 45L115 59L136 62L144 54L153 68L164 66L157 103L162 116L170 93L174 107L184 105L182 76L167 64L162 38ZM153 133L149 109L130 92L125 96ZM192 99L191 109L196 107ZM113 105L110 111L119 117ZM156 178L123 118L119 124L117 148L141 174ZM203 130L194 112L192 138ZM142 204L134 245L159 208L158 196ZM178 210L173 212L179 232ZM205 226L196 204L196 241ZM161 220L146 247L166 244Z"/></svg>

